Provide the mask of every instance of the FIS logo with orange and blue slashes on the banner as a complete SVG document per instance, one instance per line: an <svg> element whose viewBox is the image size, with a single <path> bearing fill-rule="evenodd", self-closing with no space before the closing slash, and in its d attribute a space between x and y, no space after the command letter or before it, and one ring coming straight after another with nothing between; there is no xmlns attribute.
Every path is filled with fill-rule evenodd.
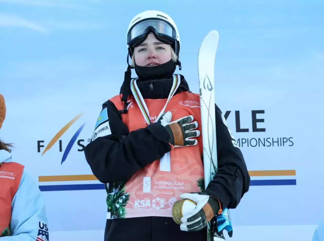
<svg viewBox="0 0 324 241"><path fill-rule="evenodd" d="M77 116L75 116L69 123L67 123L59 132L56 133L56 135L52 138L52 140L48 143L48 145L45 147L43 153L41 154L42 156L45 154L46 151L48 151L49 149L52 148L52 146L59 141L59 151L62 152L62 140L59 140L60 137L62 137L62 135L83 115L84 113L81 113ZM75 132L75 134L72 136L72 138L70 139L69 143L67 144L63 156L62 156L62 160L61 160L61 165L62 163L66 160L69 152L71 151L72 146L74 145L75 141L77 140L78 136L80 135L83 127L86 125L86 122L83 123L78 130ZM90 141L90 139L88 139L88 141ZM84 142L83 139L79 139L77 140L77 145L79 147L81 147L81 149L78 149L78 151L83 151L85 148L85 145L82 144L82 142ZM44 147L44 145L42 145L42 143L44 143L43 140L38 140L37 141L37 149L38 152L41 152L41 148Z"/></svg>

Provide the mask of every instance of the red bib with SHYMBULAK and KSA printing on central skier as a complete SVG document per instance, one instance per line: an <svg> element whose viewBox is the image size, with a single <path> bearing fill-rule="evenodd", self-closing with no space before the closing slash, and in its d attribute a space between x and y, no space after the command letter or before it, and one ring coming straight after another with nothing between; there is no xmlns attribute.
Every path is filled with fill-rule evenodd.
<svg viewBox="0 0 324 241"><path fill-rule="evenodd" d="M199 124L198 130L201 132L199 100L199 94L180 92L170 99L164 112L172 112L171 121L193 115L194 120ZM117 109L124 108L121 95L111 98L110 101L115 104ZM151 120L155 120L167 99L144 99L144 101ZM121 115L123 123L127 125L130 132L145 128L148 124L132 95L129 96L128 103L128 113ZM199 187L203 178L202 137L198 137L198 145L174 148L168 155L169 158L164 159L163 163L156 160L139 170L123 187L118 188L116 184L114 185L116 188L112 189L107 198L110 213L113 215L110 218L172 217L172 205L176 200L179 200L181 193L200 191ZM116 195L119 199L116 200L117 202L112 201L112 197ZM127 201L127 204L124 200ZM115 209L114 206L117 206L118 209ZM116 215L116 210L122 215Z"/></svg>

